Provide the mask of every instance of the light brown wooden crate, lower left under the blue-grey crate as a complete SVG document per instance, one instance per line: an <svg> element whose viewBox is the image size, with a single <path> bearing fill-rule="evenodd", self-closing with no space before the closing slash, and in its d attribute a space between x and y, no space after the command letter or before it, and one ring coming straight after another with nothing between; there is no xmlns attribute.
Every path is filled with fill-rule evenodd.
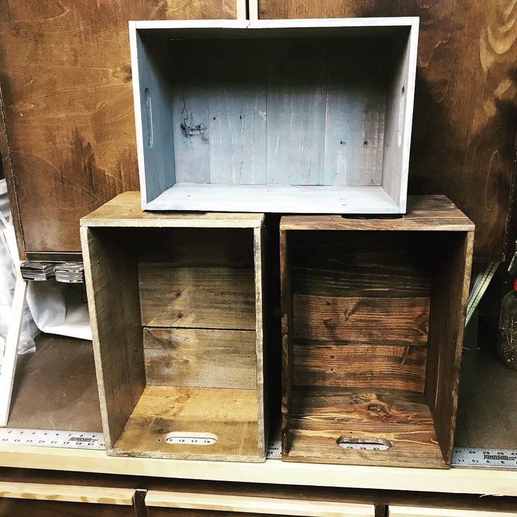
<svg viewBox="0 0 517 517"><path fill-rule="evenodd" d="M263 461L263 214L150 214L126 192L81 242L108 454Z"/></svg>

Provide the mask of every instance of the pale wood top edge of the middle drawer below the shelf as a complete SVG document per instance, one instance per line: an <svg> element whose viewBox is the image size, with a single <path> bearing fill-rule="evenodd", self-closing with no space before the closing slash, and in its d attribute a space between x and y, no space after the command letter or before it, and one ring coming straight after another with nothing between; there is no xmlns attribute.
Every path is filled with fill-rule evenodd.
<svg viewBox="0 0 517 517"><path fill-rule="evenodd" d="M162 492L150 490L145 497L149 517L223 517L247 513L270 516L374 517L373 504L350 504L303 499L277 499L240 495Z"/></svg>

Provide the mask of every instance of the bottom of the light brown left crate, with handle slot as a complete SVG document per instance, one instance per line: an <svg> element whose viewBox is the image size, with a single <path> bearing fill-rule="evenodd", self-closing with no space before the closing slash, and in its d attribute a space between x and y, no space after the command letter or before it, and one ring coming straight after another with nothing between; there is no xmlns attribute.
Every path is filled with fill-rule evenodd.
<svg viewBox="0 0 517 517"><path fill-rule="evenodd" d="M108 454L261 462L255 390L146 386ZM168 433L213 433L213 445L167 443Z"/></svg>

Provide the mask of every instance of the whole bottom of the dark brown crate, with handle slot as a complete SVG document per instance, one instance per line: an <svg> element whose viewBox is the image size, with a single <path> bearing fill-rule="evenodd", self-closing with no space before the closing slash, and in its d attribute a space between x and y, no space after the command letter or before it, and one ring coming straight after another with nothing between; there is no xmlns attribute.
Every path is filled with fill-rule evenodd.
<svg viewBox="0 0 517 517"><path fill-rule="evenodd" d="M424 395L404 391L295 388L289 462L448 468ZM341 436L391 443L388 450L350 450Z"/></svg>

